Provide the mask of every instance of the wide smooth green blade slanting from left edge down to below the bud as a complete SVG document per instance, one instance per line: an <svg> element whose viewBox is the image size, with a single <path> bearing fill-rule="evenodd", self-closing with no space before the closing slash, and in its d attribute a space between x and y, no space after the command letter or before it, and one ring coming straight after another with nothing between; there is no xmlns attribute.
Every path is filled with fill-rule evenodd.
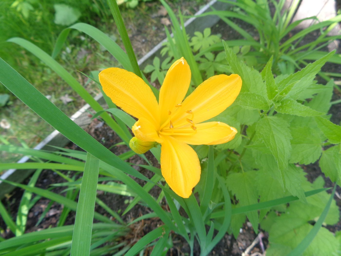
<svg viewBox="0 0 341 256"><path fill-rule="evenodd" d="M139 179L149 181L144 175L119 159L115 154L107 150L101 143L76 125L2 59L0 59L0 70L2 70L0 73L0 82L65 137L109 165L115 166L115 168Z"/></svg>

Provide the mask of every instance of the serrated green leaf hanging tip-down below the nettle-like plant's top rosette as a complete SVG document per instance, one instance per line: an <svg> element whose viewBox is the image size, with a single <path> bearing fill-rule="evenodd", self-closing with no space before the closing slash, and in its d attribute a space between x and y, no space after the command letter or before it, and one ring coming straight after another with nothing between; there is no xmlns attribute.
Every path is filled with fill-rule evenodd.
<svg viewBox="0 0 341 256"><path fill-rule="evenodd" d="M270 149L278 168L284 171L291 155L292 139L288 123L276 116L262 118L256 126L256 135Z"/></svg>

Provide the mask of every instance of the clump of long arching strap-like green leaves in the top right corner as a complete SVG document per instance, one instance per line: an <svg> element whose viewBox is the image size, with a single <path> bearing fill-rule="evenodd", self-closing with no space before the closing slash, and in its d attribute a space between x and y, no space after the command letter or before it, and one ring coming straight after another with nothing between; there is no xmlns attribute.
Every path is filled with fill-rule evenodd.
<svg viewBox="0 0 341 256"><path fill-rule="evenodd" d="M284 8L284 0L219 1L231 4L233 8L228 11L214 10L202 14L202 16L218 15L229 27L240 34L242 40L230 40L226 41L226 43L229 46L248 46L249 51L244 55L244 60L258 70L262 69L268 59L273 56L272 71L274 73L293 73L295 69L300 69L302 64L307 65L305 61L321 58L326 52L320 49L333 40L340 39L340 35L329 36L328 33L340 22L341 15L323 22L318 22L318 19L312 16L290 23L299 6L299 0L292 1L288 9ZM270 3L275 10L273 13L271 13ZM253 27L257 31L256 35L259 40L256 40L253 34L238 26L238 20ZM295 28L304 20L311 20L315 23L306 29L295 32ZM312 42L302 43L306 35L313 31L320 32L320 35ZM341 57L336 54L328 62L340 64ZM323 74L320 73L320 75ZM329 81L328 77L325 75L323 77Z"/></svg>

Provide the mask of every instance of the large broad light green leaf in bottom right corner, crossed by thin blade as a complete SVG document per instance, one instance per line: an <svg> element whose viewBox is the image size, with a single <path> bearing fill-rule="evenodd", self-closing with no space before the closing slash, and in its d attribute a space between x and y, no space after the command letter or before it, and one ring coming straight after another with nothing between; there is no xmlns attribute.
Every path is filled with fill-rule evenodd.
<svg viewBox="0 0 341 256"><path fill-rule="evenodd" d="M323 195L323 200L325 201L316 201L321 195ZM332 202L332 195L323 192L313 197L309 197L308 205L303 205L300 202L291 203L286 213L273 219L273 224L268 230L270 244L282 244L295 248L299 244L302 246L301 241L305 240L303 250L298 252L295 249L295 253L290 255L301 255L304 249L308 247L309 243L310 245L303 255L333 255L337 251L339 243L332 233L324 227L321 228L328 210L332 210L332 205L334 205L333 208L336 209L334 221L338 221L338 209L336 208L335 202ZM326 201L327 205L325 205ZM311 202L314 202L314 204ZM315 225L312 226L309 222L320 215L321 217ZM312 233L314 234L312 235ZM315 235L316 237L314 238ZM325 254L326 252L327 254Z"/></svg>

